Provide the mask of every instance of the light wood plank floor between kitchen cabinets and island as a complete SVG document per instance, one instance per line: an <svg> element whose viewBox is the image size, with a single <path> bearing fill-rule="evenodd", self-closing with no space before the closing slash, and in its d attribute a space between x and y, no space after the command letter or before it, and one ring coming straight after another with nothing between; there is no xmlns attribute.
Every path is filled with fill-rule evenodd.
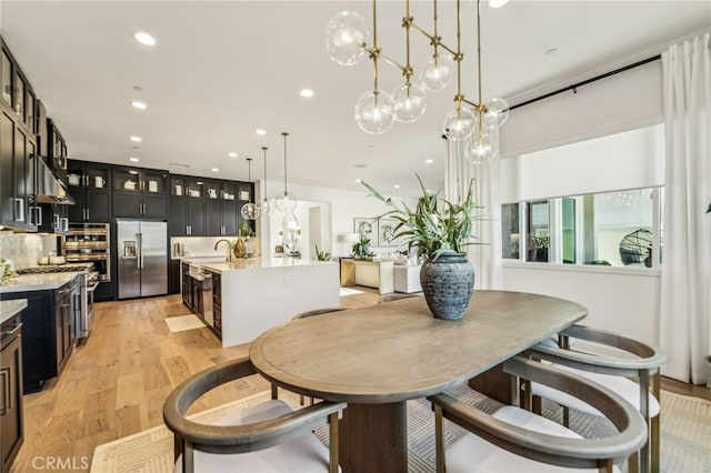
<svg viewBox="0 0 711 473"><path fill-rule="evenodd" d="M343 308L380 300L375 291L359 289L364 292L341 298ZM24 396L24 445L12 471L34 471L49 459L87 470L97 445L160 425L163 401L182 380L247 355L248 344L222 349L207 328L168 330L166 318L189 313L179 295L96 304L87 343L74 349L59 379ZM711 399L705 388L671 380L663 380L662 388ZM193 411L267 389L264 380L250 376L204 395Z"/></svg>

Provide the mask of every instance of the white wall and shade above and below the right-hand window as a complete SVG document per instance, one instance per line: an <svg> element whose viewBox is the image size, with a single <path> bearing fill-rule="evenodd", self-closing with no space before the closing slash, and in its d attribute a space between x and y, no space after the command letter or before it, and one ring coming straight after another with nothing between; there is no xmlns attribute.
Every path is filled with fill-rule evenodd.
<svg viewBox="0 0 711 473"><path fill-rule="evenodd" d="M663 184L662 128L642 129L661 121L659 61L512 111L502 202ZM504 262L503 286L573 300L584 323L659 343L658 270Z"/></svg>

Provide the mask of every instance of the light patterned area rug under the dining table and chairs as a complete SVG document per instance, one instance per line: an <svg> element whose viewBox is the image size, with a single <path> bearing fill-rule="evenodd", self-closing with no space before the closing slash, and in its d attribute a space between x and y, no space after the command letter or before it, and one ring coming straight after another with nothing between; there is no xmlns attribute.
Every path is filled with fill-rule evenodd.
<svg viewBox="0 0 711 473"><path fill-rule="evenodd" d="M449 391L463 402L483 411L493 412L501 404L482 394L460 386ZM664 473L711 473L711 401L689 397L662 391L661 424L661 471ZM191 416L202 423L233 411L269 399L263 392L234 401ZM280 391L283 399L294 409L298 396ZM553 404L543 405L545 416L560 420L560 409ZM580 412L571 412L571 429L584 436L605 436L612 432L609 421ZM408 401L408 461L409 471L424 473L434 471L434 416L430 403L424 399ZM327 427L316 434L328 444ZM447 444L452 444L463 430L448 423ZM162 473L173 470L173 437L163 425L99 445L93 453L91 472Z"/></svg>

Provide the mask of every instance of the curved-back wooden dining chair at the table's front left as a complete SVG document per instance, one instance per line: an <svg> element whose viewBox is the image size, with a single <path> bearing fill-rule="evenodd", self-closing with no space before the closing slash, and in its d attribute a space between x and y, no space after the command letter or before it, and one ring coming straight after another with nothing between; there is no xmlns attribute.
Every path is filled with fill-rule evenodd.
<svg viewBox="0 0 711 473"><path fill-rule="evenodd" d="M338 472L338 419L344 403L323 401L292 411L272 399L210 425L186 416L202 394L256 373L250 359L241 358L188 378L169 394L163 420L174 433L174 471ZM330 449L312 432L326 424Z"/></svg>

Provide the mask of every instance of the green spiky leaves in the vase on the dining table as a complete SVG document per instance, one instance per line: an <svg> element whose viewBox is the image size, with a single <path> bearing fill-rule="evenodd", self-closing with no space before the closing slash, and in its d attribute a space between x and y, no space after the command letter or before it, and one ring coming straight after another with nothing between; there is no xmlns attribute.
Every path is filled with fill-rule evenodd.
<svg viewBox="0 0 711 473"><path fill-rule="evenodd" d="M440 191L430 195L419 174L414 174L422 189L422 198L414 209L404 202L398 204L391 198L383 197L372 185L363 185L374 198L392 208L380 217L390 217L398 221L395 239L408 242L408 249L418 246L419 254L427 254L433 260L440 254L462 253L464 246L474 244L471 240L472 222L481 219L475 212L481 209L475 205L473 179L469 181L467 195L460 202L450 202L440 197Z"/></svg>

